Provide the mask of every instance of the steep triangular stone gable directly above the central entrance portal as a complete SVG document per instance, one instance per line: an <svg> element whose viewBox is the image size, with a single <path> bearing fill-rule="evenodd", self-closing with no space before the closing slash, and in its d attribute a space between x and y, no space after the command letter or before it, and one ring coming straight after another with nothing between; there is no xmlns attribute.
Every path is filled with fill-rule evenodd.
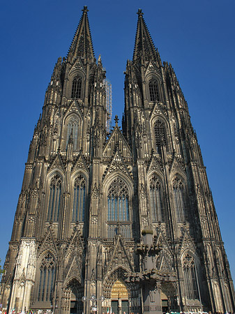
<svg viewBox="0 0 235 314"><path fill-rule="evenodd" d="M123 240L121 239L121 234L119 234L116 240L113 255L109 262L109 266L107 267L107 272L118 266L127 267L130 271L133 271L132 264L130 263L129 257L126 253L126 248L123 245Z"/></svg>

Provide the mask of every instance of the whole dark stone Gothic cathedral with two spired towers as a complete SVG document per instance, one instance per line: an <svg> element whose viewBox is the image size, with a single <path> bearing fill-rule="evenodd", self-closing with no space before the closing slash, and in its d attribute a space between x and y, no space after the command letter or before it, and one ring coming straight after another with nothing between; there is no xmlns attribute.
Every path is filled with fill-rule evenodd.
<svg viewBox="0 0 235 314"><path fill-rule="evenodd" d="M188 104L137 15L125 109L111 130L86 6L54 66L4 264L7 313L235 311Z"/></svg>

